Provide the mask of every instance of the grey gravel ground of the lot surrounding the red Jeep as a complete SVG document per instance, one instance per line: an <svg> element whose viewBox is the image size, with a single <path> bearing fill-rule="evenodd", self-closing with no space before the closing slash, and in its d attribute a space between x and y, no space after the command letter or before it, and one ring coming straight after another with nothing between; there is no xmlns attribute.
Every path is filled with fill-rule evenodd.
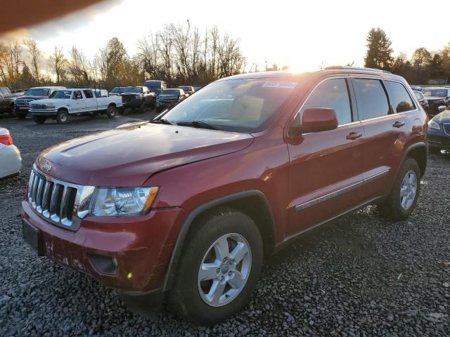
<svg viewBox="0 0 450 337"><path fill-rule="evenodd" d="M250 304L209 328L162 312L150 322L117 292L37 258L20 199L39 151L146 114L60 126L0 117L23 172L0 181L0 336L450 336L450 154L431 155L418 207L392 223L372 206L324 225L264 266Z"/></svg>

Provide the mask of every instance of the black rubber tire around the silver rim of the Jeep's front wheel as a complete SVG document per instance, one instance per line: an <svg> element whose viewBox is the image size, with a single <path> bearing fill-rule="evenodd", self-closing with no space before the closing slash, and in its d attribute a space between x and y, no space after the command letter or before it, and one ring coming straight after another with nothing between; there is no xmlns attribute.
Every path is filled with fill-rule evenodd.
<svg viewBox="0 0 450 337"><path fill-rule="evenodd" d="M250 275L244 288L230 303L221 307L207 305L198 291L198 270L203 263L203 257L210 246L219 237L225 234L237 233L242 235L250 246L252 253L252 266ZM177 290L184 305L185 315L193 322L210 325L230 317L248 303L255 287L262 267L262 239L255 223L243 213L238 211L221 212L201 226L201 230L193 237L188 237L186 249L180 261L179 274L176 282Z"/></svg>

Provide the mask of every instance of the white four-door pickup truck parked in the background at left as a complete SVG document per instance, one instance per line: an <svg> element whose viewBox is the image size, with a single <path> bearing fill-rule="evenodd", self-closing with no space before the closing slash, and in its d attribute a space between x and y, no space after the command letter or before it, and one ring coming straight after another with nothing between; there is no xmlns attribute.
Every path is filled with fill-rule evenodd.
<svg viewBox="0 0 450 337"><path fill-rule="evenodd" d="M108 91L82 89L61 89L51 93L44 100L30 102L30 114L33 120L44 123L46 119L56 119L59 124L65 124L69 115L91 115L103 112L110 118L115 117L119 109L122 109L120 96L108 96Z"/></svg>

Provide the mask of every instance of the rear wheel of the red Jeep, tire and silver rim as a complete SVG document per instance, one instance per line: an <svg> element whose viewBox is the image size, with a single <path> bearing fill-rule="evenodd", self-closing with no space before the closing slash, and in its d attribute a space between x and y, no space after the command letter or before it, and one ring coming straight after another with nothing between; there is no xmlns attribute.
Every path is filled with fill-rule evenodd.
<svg viewBox="0 0 450 337"><path fill-rule="evenodd" d="M378 205L380 213L393 220L404 220L416 208L419 194L420 169L416 160L408 158L401 164L389 197Z"/></svg>

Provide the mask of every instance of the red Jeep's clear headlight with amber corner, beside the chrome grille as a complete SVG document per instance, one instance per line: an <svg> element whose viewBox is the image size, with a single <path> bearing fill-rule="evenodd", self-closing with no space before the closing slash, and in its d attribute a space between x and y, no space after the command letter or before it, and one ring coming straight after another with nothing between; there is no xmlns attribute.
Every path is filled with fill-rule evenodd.
<svg viewBox="0 0 450 337"><path fill-rule="evenodd" d="M97 188L92 198L92 216L139 216L153 204L158 187Z"/></svg>

